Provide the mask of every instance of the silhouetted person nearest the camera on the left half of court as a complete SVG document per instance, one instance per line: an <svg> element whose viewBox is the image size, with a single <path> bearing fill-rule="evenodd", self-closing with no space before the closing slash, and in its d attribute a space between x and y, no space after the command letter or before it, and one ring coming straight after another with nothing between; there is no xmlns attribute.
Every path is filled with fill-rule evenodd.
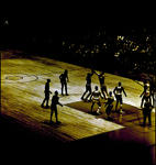
<svg viewBox="0 0 156 165"><path fill-rule="evenodd" d="M56 123L59 123L58 122L58 118L57 118L57 105L62 106L63 105L60 102L58 102L58 91L56 90L55 91L55 95L53 96L52 98L52 103L51 103L51 123L52 123L52 117L53 117L53 112L55 111L55 118L56 118Z"/></svg>

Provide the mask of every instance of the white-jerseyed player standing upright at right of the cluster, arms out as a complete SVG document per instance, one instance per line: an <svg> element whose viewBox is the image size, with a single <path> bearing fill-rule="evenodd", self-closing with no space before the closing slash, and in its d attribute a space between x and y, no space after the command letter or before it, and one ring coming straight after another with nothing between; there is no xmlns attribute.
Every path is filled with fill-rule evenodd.
<svg viewBox="0 0 156 165"><path fill-rule="evenodd" d="M119 82L119 86L115 87L115 89L113 90L113 94L114 94L114 96L115 96L115 98L116 98L115 112L118 112L118 111L116 111L116 108L118 108L118 103L120 102L120 113L124 113L124 112L122 111L122 91L123 91L123 94L124 94L125 97L126 97L126 94L125 94L125 91L124 91L124 88L121 86L121 82Z"/></svg>

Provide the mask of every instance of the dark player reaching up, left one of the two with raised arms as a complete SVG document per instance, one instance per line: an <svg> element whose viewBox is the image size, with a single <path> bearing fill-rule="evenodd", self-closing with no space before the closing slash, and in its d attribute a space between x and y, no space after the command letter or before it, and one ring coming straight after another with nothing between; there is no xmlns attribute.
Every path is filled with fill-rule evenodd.
<svg viewBox="0 0 156 165"><path fill-rule="evenodd" d="M83 92L83 95L82 95L82 97L81 97L81 100L87 100L88 97L91 95L91 76L92 76L92 75L93 75L93 70L91 70L91 74L90 74L90 73L87 74L87 77L86 77L86 80L87 80L87 84L86 84L86 91ZM86 98L83 98L85 95L86 95L88 91L89 91L88 96L87 96Z"/></svg>

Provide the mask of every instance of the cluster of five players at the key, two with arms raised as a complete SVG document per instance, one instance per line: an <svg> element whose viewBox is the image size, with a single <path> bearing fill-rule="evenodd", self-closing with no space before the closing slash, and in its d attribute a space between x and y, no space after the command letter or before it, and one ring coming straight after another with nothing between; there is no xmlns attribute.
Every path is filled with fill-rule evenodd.
<svg viewBox="0 0 156 165"><path fill-rule="evenodd" d="M96 74L99 77L101 91L98 90L98 86L96 86L94 90L91 91L91 77L93 74ZM81 100L87 101L88 97L90 96L90 100L92 100L92 106L91 106L90 111L92 112L93 106L94 106L94 103L97 103L99 106L99 108L97 110L98 114L100 114L100 109L101 109L100 98L102 98L102 99L104 98L105 100L108 100L105 103L105 107L107 107L105 111L107 111L108 119L109 119L111 109L113 108L114 97L112 96L112 91L110 91L108 94L107 86L104 84L104 73L101 72L100 74L97 74L94 70L91 70L91 74L90 73L87 74L86 80L87 80L86 91L83 92ZM88 96L86 98L83 98L88 91L89 91ZM115 98L116 98L115 112L120 112L120 113L123 113L123 111L122 111L122 91L126 96L124 88L121 86L121 82L119 82L119 86L115 87L113 92L114 92ZM103 97L102 97L101 92L102 92ZM107 97L105 97L105 95L107 95ZM120 102L120 111L116 110L119 102Z"/></svg>

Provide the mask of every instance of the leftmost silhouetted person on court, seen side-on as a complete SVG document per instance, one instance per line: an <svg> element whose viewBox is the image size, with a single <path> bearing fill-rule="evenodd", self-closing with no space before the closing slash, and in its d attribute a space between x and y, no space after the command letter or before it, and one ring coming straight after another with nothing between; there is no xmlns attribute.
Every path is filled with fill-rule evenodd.
<svg viewBox="0 0 156 165"><path fill-rule="evenodd" d="M51 79L47 79L46 84L45 84L45 98L42 102L42 107L44 107L44 102L46 101L46 108L48 108L48 100L49 100L49 94L52 94L52 91L49 91L49 82L51 82Z"/></svg>

